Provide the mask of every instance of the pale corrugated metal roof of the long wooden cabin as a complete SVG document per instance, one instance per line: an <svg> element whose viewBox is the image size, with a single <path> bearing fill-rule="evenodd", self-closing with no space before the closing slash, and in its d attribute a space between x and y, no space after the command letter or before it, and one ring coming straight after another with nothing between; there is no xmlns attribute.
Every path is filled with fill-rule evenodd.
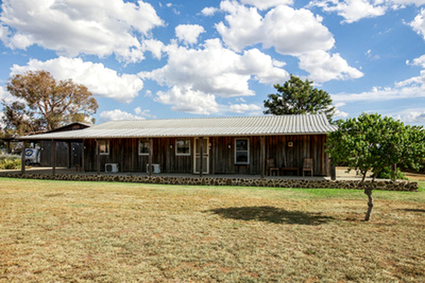
<svg viewBox="0 0 425 283"><path fill-rule="evenodd" d="M323 134L336 130L323 114L258 117L116 120L82 130L21 136L20 139L94 139L173 136Z"/></svg>

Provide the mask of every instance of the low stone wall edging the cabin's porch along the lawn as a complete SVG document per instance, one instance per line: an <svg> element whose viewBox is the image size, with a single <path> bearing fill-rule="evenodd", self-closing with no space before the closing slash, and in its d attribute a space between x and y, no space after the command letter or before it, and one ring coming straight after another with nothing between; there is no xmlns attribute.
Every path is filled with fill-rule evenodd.
<svg viewBox="0 0 425 283"><path fill-rule="evenodd" d="M280 178L211 178L211 177L161 177L131 175L73 175L73 174L22 174L1 172L0 177L40 180L105 181L127 183L173 184L173 185L211 185L211 186L258 186L278 188L317 188L317 189L363 189L358 180L308 180ZM365 182L376 190L417 191L418 183L404 180Z"/></svg>

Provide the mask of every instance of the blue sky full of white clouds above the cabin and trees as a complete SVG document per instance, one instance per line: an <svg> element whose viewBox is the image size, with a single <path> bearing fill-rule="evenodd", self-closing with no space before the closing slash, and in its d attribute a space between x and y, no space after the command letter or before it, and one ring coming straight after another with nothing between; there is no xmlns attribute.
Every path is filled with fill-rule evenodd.
<svg viewBox="0 0 425 283"><path fill-rule="evenodd" d="M336 118L425 124L425 0L3 0L0 98L45 69L88 86L96 123L261 115L294 74Z"/></svg>

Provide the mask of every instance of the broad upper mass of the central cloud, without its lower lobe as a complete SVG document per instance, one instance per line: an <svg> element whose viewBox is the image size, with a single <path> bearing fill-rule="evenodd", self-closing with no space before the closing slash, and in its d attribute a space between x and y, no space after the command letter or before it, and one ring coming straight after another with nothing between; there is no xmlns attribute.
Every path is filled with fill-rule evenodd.
<svg viewBox="0 0 425 283"><path fill-rule="evenodd" d="M257 49L238 55L224 48L219 39L209 39L198 49L171 44L164 50L168 54L167 64L152 72L140 72L142 78L170 87L184 86L181 89L233 97L254 95L248 86L252 76L262 83L289 77L285 70L273 66L269 55Z"/></svg>

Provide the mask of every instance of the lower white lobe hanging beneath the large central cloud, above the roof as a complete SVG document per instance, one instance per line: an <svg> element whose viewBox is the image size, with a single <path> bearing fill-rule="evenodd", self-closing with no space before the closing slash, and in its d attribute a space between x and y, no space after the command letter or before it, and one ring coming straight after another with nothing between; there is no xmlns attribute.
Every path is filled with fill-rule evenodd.
<svg viewBox="0 0 425 283"><path fill-rule="evenodd" d="M172 89L156 93L156 101L171 104L171 110L192 114L208 115L218 112L218 103L213 94L206 94L190 87L173 86Z"/></svg>

